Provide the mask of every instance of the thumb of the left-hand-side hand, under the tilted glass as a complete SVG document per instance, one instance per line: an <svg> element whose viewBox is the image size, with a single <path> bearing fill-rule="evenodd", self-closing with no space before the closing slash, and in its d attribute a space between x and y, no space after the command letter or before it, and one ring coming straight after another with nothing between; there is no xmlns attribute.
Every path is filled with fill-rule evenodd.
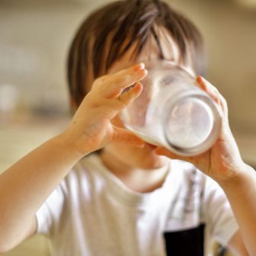
<svg viewBox="0 0 256 256"><path fill-rule="evenodd" d="M130 131L116 126L114 126L113 141L122 142L125 143L126 145L128 144L130 146L136 146L139 148L145 146L145 142L142 139L139 139L133 133L130 133Z"/></svg>

